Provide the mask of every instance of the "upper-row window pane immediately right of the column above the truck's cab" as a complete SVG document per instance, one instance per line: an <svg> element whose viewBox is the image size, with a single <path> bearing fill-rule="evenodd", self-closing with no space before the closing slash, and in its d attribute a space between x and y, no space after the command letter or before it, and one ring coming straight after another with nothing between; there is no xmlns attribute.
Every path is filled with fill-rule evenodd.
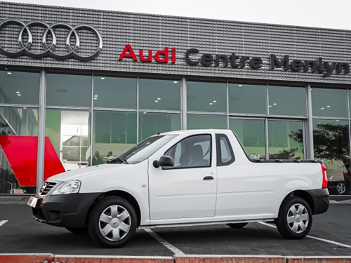
<svg viewBox="0 0 351 263"><path fill-rule="evenodd" d="M226 83L187 81L188 112L227 112Z"/></svg>

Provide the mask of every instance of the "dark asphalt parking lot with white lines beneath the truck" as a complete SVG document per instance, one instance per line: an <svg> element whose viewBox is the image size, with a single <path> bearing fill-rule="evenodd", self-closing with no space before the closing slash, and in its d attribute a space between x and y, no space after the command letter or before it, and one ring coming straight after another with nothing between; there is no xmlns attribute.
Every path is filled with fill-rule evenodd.
<svg viewBox="0 0 351 263"><path fill-rule="evenodd" d="M0 204L0 253L61 255L281 255L351 256L351 203L332 203L313 217L302 240L282 238L273 224L250 223L243 229L225 224L137 230L123 248L100 248L88 234L72 234L32 219L24 203Z"/></svg>

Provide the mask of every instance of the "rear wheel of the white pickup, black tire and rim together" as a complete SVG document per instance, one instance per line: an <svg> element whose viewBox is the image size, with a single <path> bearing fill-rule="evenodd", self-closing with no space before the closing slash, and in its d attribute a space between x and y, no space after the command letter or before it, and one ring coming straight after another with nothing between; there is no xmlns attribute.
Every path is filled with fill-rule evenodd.
<svg viewBox="0 0 351 263"><path fill-rule="evenodd" d="M283 201L275 223L279 233L285 238L304 238L312 226L310 205L303 198L289 196Z"/></svg>

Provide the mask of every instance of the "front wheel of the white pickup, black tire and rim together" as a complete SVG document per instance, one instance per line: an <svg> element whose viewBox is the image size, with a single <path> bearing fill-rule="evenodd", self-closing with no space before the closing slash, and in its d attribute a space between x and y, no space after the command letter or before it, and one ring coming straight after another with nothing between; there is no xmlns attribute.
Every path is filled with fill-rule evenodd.
<svg viewBox="0 0 351 263"><path fill-rule="evenodd" d="M134 236L136 227L137 216L133 205L118 196L109 196L99 201L88 219L91 238L105 248L120 248L128 243Z"/></svg>

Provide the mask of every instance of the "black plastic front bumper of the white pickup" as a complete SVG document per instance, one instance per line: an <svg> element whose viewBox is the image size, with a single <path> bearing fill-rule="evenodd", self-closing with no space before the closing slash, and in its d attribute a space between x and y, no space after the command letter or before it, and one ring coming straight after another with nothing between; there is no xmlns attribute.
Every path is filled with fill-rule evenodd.
<svg viewBox="0 0 351 263"><path fill-rule="evenodd" d="M34 219L57 227L85 227L86 217L100 193L36 196Z"/></svg>

